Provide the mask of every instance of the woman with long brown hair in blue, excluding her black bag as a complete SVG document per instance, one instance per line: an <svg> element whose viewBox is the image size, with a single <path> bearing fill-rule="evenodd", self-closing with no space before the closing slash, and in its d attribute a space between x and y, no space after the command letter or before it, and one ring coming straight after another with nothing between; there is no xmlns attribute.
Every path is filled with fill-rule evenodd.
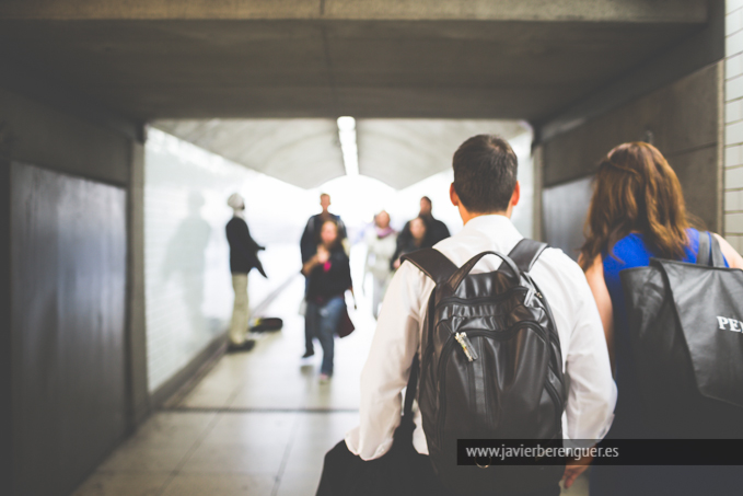
<svg viewBox="0 0 743 496"><path fill-rule="evenodd" d="M715 235L725 264L743 268L743 257L723 238L699 232L690 217L676 174L652 145L624 143L602 160L579 264L599 307L617 383L615 418L607 438L660 437L645 424L641 413L640 378L635 373L619 272L648 266L650 257L695 263L700 235ZM591 496L697 494L701 487L701 494L710 494L711 485L725 478L718 472L709 477L708 470L703 474L689 469L593 466ZM700 480L704 486L693 489Z"/></svg>

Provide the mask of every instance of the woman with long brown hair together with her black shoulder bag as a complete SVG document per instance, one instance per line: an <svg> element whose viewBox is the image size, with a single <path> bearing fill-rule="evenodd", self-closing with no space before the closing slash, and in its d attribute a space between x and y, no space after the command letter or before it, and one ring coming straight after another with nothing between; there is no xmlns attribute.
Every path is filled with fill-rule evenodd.
<svg viewBox="0 0 743 496"><path fill-rule="evenodd" d="M732 268L743 268L743 257L723 238L693 227L698 223L676 173L652 145L623 143L600 162L579 264L602 318L618 390L607 439L740 432L728 420L740 411L743 341L729 324L740 319L743 273ZM652 452L652 441L645 446ZM743 468L673 465L660 454L657 461L596 464L590 493L740 493Z"/></svg>

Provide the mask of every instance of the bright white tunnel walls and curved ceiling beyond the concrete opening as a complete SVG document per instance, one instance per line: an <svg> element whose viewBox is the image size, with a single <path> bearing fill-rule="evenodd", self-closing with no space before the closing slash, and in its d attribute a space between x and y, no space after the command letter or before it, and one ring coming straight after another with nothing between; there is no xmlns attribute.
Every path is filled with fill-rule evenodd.
<svg viewBox="0 0 743 496"><path fill-rule="evenodd" d="M367 128L372 129L369 138ZM268 278L257 273L248 278L254 314L265 313L260 309L270 304L269 296L275 298L294 279L302 279L299 240L307 219L320 210L321 193L330 195L330 211L341 216L348 231L361 300L368 286L364 240L375 214L386 210L399 231L418 215L420 198L428 196L434 217L451 232L461 229L462 220L449 198L452 150L481 129L513 145L524 192L514 223L531 235L532 134L522 123L362 119L355 129L359 172L348 175L339 129L329 119L153 122L144 147L143 183L152 394L173 394L169 379L204 348L224 342L233 299L224 237L232 217L225 199L232 193L245 198L251 235L266 246L260 258ZM425 153L416 154L418 147L425 147ZM375 161L381 166L375 168ZM370 177L367 170L386 182ZM396 170L405 172L395 175ZM290 304L297 310L300 301Z"/></svg>

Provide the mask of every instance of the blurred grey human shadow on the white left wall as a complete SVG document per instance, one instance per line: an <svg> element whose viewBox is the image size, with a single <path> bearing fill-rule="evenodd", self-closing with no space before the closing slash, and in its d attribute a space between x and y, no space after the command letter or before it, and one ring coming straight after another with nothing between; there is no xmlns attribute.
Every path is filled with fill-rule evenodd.
<svg viewBox="0 0 743 496"><path fill-rule="evenodd" d="M201 217L204 196L198 192L188 195L188 216L178 224L167 242L162 266L162 282L174 279L187 311L188 330L182 330L183 346L190 351L197 336L213 322L204 316L204 288L206 285L206 251L211 237L211 226ZM207 324L209 324L207 326ZM186 334L186 331L187 334Z"/></svg>

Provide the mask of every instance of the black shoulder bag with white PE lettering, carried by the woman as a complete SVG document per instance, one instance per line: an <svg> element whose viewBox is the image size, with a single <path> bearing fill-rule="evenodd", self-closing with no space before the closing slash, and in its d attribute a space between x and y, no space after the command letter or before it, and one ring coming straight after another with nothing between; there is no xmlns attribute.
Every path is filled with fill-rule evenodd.
<svg viewBox="0 0 743 496"><path fill-rule="evenodd" d="M642 414L653 437L743 438L743 270L699 234L696 264L619 273Z"/></svg>

